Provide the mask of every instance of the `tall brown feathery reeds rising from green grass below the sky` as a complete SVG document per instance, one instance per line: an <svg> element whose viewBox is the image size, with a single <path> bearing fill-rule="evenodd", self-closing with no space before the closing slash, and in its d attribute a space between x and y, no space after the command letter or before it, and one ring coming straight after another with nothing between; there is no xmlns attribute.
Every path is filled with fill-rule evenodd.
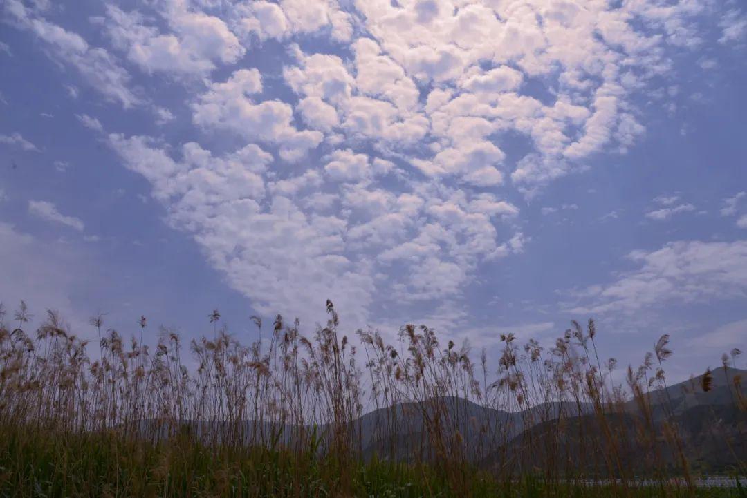
<svg viewBox="0 0 747 498"><path fill-rule="evenodd" d="M548 350L502 336L491 369L427 327L350 341L327 311L310 338L278 316L250 346L215 311L186 354L169 330L144 346L145 318L125 347L93 317L92 347L0 307L0 496L746 496L697 485L746 473L739 350L670 386L664 335L616 384L592 321Z"/></svg>

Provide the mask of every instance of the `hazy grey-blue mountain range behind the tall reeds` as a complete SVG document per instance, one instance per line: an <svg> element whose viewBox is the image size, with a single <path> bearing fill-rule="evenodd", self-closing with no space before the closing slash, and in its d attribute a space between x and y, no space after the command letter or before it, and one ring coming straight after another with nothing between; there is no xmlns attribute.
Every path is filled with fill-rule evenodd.
<svg viewBox="0 0 747 498"><path fill-rule="evenodd" d="M599 417L589 403L542 403L507 412L461 397L438 397L376 409L350 429L365 458L465 458L509 472L568 465L557 470L571 473L583 468L586 475L615 473L619 467L645 475L657 465L681 473L684 455L694 472L741 468L745 473L747 371L717 368L711 373L709 391L703 390L702 377L650 391L645 395L649 415L641 412L636 400ZM745 382L735 385L734 379L740 377ZM264 423L257 429L251 421L245 424L249 441L260 432L264 441L286 445L293 444L302 430L306 435L315 431L322 441L328 434L326 426L302 429ZM676 427L677 438L669 426ZM203 423L193 424L193 429L211 432Z"/></svg>

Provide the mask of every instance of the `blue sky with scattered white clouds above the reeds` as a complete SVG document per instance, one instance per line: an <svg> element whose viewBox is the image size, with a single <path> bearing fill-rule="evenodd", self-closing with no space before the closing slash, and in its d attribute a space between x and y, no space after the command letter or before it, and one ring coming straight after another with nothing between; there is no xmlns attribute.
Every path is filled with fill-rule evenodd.
<svg viewBox="0 0 747 498"><path fill-rule="evenodd" d="M747 350L740 1L3 0L0 74L7 318Z"/></svg>

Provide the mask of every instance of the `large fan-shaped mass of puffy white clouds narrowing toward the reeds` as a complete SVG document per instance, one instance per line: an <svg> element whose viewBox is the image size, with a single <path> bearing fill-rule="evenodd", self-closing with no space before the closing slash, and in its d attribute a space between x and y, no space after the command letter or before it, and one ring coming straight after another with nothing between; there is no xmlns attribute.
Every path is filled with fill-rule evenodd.
<svg viewBox="0 0 747 498"><path fill-rule="evenodd" d="M91 20L108 48L42 7L4 14L105 99L188 128L166 139L78 116L232 287L303 317L331 297L359 324L382 303L458 301L483 265L521 253L520 201L625 154L673 54L734 40L743 19L710 0L208 3L105 4ZM178 86L182 108L135 75ZM695 209L677 201L646 216ZM34 210L75 227L53 208ZM655 287L656 271L629 277ZM595 306L626 302L615 289Z"/></svg>

